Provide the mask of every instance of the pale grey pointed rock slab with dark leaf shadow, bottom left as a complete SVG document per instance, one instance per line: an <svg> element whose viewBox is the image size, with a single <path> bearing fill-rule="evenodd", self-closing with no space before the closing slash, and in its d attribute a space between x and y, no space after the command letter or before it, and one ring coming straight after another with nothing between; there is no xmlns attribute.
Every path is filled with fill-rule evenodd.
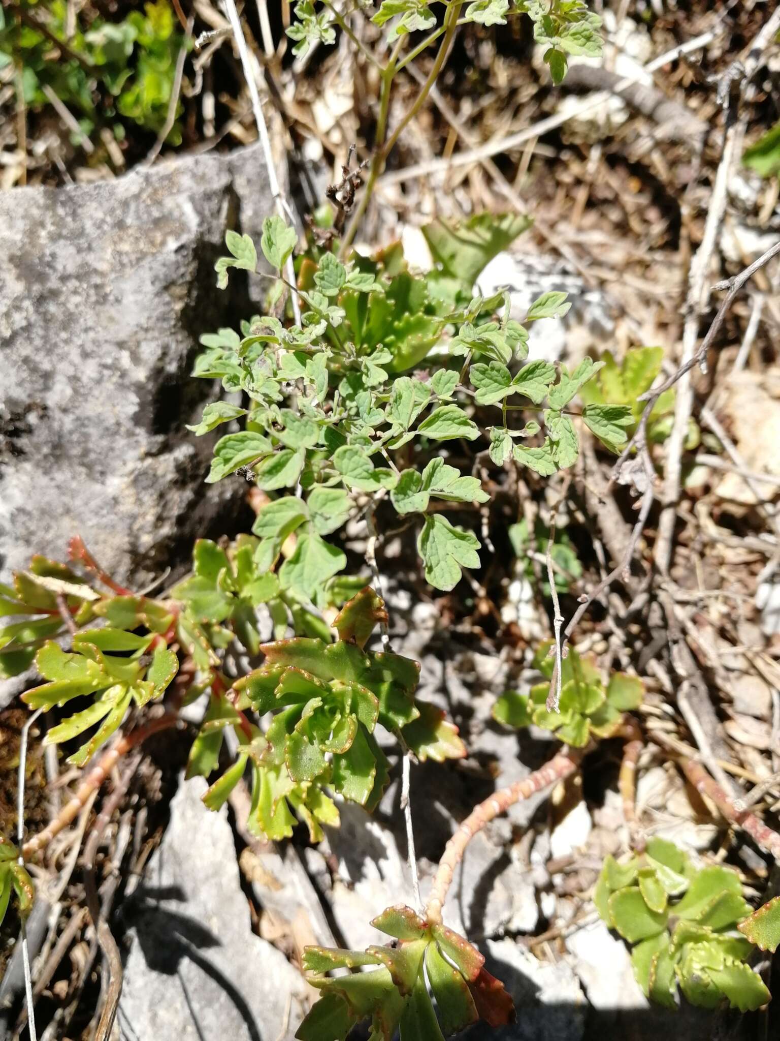
<svg viewBox="0 0 780 1041"><path fill-rule="evenodd" d="M201 778L181 782L171 823L125 915L132 946L119 1009L127 1041L288 1041L307 985L252 932L233 833Z"/></svg>

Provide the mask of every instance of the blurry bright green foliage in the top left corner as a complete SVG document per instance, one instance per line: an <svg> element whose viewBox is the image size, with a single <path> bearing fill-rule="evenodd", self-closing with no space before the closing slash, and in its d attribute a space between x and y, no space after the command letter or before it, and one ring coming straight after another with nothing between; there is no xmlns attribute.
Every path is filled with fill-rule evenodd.
<svg viewBox="0 0 780 1041"><path fill-rule="evenodd" d="M0 8L0 68L17 60L21 67L25 104L51 105L47 91L72 111L84 134L104 124L122 139L122 118L154 133L167 118L177 56L185 46L168 0L154 0L144 10L131 10L121 21L82 12L75 32L68 37L66 0L46 5L23 0L21 8L31 19L22 21L12 7ZM45 24L49 35L35 26ZM51 37L62 41L64 52L52 60ZM181 111L177 106L177 115ZM175 122L167 135L181 143Z"/></svg>

